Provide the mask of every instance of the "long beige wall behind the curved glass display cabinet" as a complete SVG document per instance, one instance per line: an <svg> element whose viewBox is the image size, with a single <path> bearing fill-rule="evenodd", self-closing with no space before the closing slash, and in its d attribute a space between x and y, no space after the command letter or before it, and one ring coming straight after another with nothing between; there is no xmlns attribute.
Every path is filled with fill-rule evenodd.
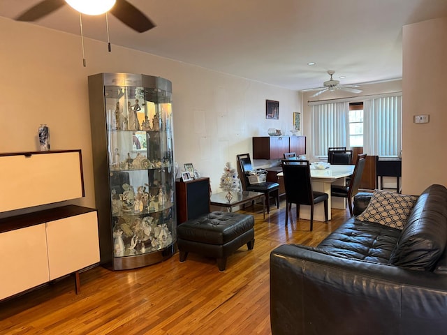
<svg viewBox="0 0 447 335"><path fill-rule="evenodd" d="M38 150L37 129L50 128L51 149L82 149L86 197L94 207L87 76L144 73L173 82L175 160L193 163L219 191L227 161L252 151L251 137L289 131L298 92L224 75L151 54L0 17L0 152ZM279 120L265 119L265 100L279 101ZM3 190L4 192L4 190ZM38 196L38 195L36 195Z"/></svg>

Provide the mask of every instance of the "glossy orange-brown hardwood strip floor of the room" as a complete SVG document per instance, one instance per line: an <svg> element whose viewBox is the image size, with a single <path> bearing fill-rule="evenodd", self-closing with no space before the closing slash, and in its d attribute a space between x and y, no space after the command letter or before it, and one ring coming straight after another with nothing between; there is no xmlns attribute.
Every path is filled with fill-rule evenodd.
<svg viewBox="0 0 447 335"><path fill-rule="evenodd" d="M259 205L240 211L254 214L254 249L237 250L226 271L192 253L183 263L177 253L135 270L94 267L80 274L80 295L67 276L0 301L0 334L269 335L270 251L280 244L316 246L349 217L349 211L332 209L332 221L316 221L309 232L309 221L290 223L295 207L285 227L284 207L282 200L265 220Z"/></svg>

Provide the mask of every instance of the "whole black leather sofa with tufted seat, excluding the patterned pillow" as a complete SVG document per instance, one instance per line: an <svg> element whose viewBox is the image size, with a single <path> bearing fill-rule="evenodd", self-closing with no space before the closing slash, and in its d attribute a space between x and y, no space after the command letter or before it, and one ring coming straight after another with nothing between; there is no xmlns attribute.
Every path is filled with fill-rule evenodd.
<svg viewBox="0 0 447 335"><path fill-rule="evenodd" d="M356 196L355 215L370 196ZM432 185L403 230L354 216L316 248L275 248L272 335L447 334L446 241L447 189Z"/></svg>

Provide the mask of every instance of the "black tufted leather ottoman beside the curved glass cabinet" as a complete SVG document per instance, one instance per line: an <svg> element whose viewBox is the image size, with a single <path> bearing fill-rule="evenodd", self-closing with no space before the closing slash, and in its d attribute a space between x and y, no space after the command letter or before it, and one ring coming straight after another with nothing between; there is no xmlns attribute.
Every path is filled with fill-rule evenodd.
<svg viewBox="0 0 447 335"><path fill-rule="evenodd" d="M213 211L186 221L177 227L180 262L188 253L217 258L220 271L225 270L226 258L247 244L254 246L254 217L247 214Z"/></svg>

